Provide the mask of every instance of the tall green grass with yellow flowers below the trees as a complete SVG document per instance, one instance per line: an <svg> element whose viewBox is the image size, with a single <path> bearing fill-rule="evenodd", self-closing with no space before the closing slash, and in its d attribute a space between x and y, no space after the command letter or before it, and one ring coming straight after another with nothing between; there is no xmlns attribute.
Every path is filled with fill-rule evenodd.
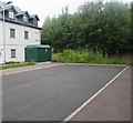
<svg viewBox="0 0 133 123"><path fill-rule="evenodd" d="M53 53L52 61L62 63L130 64L130 61L125 61L121 58L109 58L108 55L104 57L99 51L94 52L86 49L64 50L61 53Z"/></svg>

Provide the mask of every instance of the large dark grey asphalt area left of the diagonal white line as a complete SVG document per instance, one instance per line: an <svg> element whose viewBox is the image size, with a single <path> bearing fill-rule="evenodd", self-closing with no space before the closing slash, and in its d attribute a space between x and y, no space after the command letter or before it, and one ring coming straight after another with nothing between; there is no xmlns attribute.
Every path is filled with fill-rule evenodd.
<svg viewBox="0 0 133 123"><path fill-rule="evenodd" d="M3 121L62 121L124 68L60 65L2 78Z"/></svg>

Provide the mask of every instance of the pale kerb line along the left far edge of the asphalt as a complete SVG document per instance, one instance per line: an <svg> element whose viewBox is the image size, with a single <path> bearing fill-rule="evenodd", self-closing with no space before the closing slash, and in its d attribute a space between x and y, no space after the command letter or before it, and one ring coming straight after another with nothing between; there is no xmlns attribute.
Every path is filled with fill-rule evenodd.
<svg viewBox="0 0 133 123"><path fill-rule="evenodd" d="M63 64L53 64L53 65L48 65L48 66L39 66L39 68L32 68L32 69L27 69L27 70L21 70L21 71L14 71L14 72L10 72L10 73L3 73L0 75L10 75L10 74L17 74L17 73L21 73L21 72L27 72L27 71L33 71L33 70L40 70L40 69L47 69L47 68L52 68L52 66L58 66L58 65L63 65Z"/></svg>

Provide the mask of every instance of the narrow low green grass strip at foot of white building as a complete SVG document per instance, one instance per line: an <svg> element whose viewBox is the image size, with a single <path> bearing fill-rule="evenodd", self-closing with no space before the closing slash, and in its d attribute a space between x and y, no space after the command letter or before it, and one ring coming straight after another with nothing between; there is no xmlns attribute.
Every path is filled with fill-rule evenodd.
<svg viewBox="0 0 133 123"><path fill-rule="evenodd" d="M7 64L6 69L11 69L11 68L20 68L20 66L28 66L28 65L35 65L35 63L28 62L28 63L12 63L12 64ZM4 69L4 66L0 66L0 69Z"/></svg>

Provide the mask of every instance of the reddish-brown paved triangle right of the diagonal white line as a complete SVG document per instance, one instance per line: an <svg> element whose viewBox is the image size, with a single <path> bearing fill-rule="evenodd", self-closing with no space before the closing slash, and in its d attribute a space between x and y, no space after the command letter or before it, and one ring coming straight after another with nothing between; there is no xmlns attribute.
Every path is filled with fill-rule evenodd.
<svg viewBox="0 0 133 123"><path fill-rule="evenodd" d="M71 121L131 121L131 68L126 69Z"/></svg>

